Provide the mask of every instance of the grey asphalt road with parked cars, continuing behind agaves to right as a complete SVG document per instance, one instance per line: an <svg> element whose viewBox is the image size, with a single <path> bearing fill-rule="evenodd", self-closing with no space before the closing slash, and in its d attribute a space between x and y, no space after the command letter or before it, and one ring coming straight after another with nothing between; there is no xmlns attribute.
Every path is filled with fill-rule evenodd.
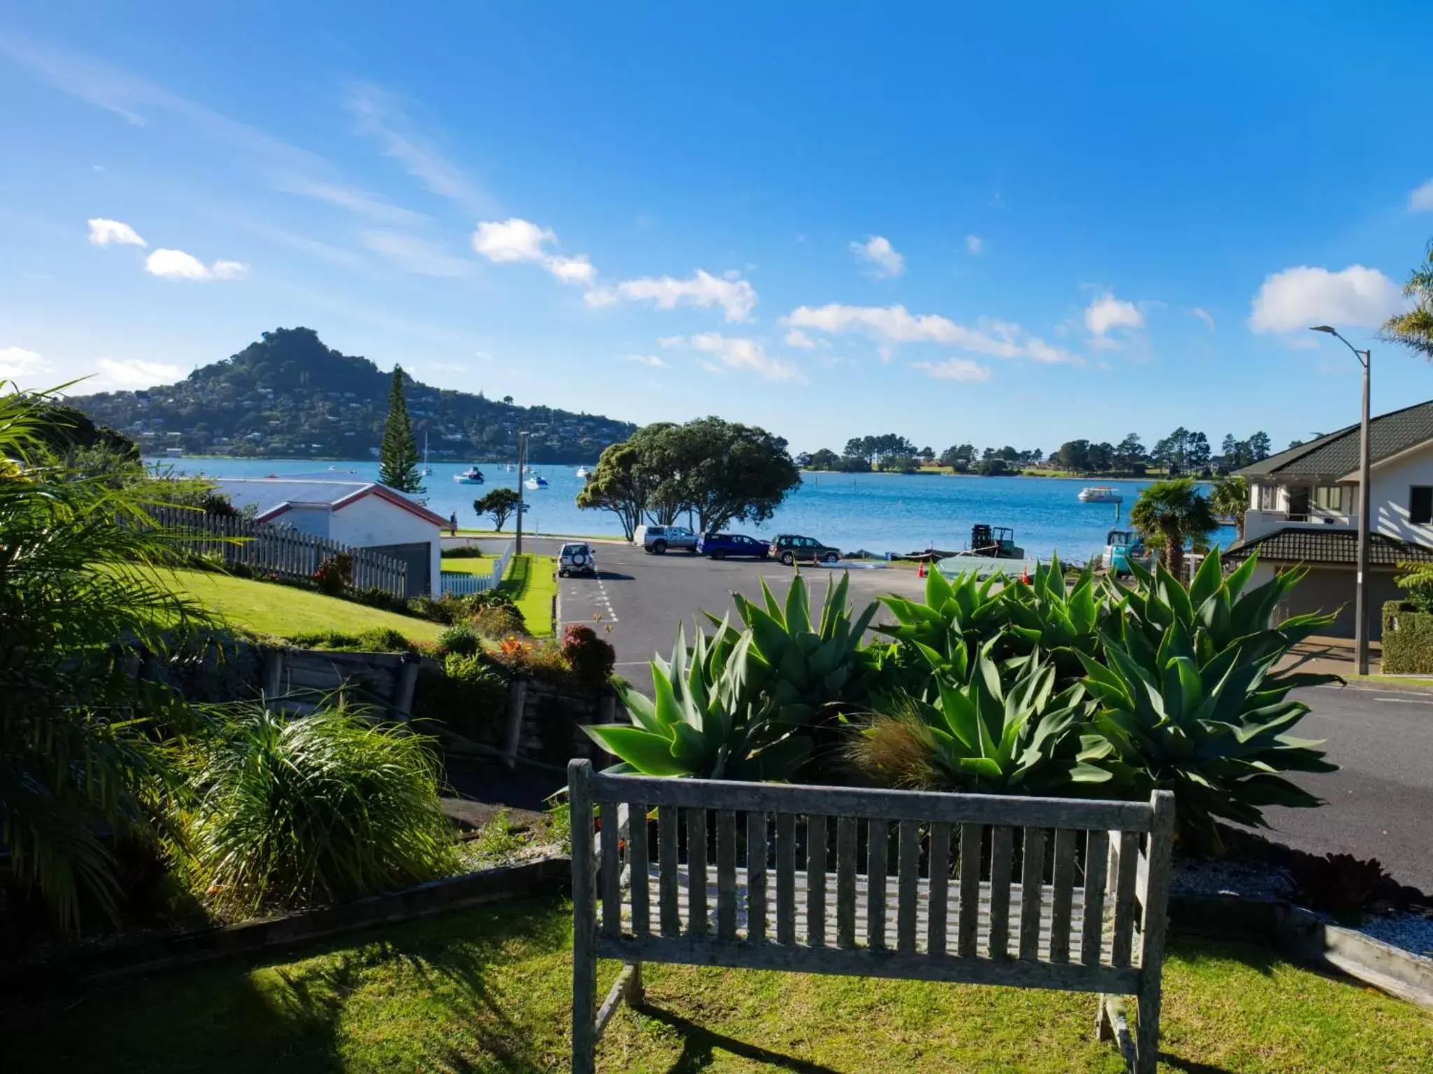
<svg viewBox="0 0 1433 1074"><path fill-rule="evenodd" d="M560 541L540 540L539 551L556 554ZM648 556L639 548L599 544L598 579L562 579L562 623L610 627L618 673L639 689L651 689L648 660L668 656L676 624L702 610L731 611L731 594L759 596L765 577L778 596L791 569L778 563L698 558L685 553ZM802 567L824 591L824 567ZM919 596L914 571L851 570L857 606L880 593ZM1433 892L1433 695L1366 687L1320 687L1298 695L1313 712L1298 725L1300 737L1326 739L1328 758L1340 766L1330 775L1298 775L1311 793L1327 800L1318 809L1268 809L1271 835L1314 852L1377 858L1403 884Z"/></svg>

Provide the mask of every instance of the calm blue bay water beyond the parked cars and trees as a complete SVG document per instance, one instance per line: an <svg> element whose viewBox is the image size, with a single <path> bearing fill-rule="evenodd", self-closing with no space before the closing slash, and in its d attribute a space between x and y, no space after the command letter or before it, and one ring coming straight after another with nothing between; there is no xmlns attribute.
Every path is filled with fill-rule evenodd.
<svg viewBox="0 0 1433 1074"><path fill-rule="evenodd" d="M317 475L332 465L334 477L377 480L378 464L314 463L311 460L166 460L176 470L212 477ZM492 526L479 520L473 500L490 488L516 487L516 470L483 465L483 485L460 485L453 475L467 464L434 463L427 478L427 504L447 517L457 511L460 526ZM547 478L549 487L527 490L529 526L546 533L620 536L616 517L608 511L579 511L573 503L582 478L575 465L530 468ZM1016 544L1027 554L1048 557L1059 551L1066 561L1083 563L1105 546L1115 526L1113 504L1082 504L1075 495L1092 481L1052 477L936 477L921 474L804 474L801 487L762 526L734 524L732 530L752 537L801 533L847 551L914 551L927 547L959 550L970 540L973 523L1015 527ZM1148 481L1103 481L1123 493L1121 517L1128 513ZM682 520L679 520L682 521ZM509 520L507 528L512 528ZM1221 543L1232 540L1224 530Z"/></svg>

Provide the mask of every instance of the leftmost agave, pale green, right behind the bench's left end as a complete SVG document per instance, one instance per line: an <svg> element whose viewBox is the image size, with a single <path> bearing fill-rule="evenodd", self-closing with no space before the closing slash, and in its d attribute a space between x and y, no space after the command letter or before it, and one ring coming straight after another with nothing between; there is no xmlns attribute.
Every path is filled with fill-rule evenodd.
<svg viewBox="0 0 1433 1074"><path fill-rule="evenodd" d="M811 740L777 719L759 683L770 667L751 630L721 621L698 632L691 647L678 630L671 660L652 662L653 696L622 690L629 726L583 730L620 758L609 772L701 779L790 779L811 753Z"/></svg>

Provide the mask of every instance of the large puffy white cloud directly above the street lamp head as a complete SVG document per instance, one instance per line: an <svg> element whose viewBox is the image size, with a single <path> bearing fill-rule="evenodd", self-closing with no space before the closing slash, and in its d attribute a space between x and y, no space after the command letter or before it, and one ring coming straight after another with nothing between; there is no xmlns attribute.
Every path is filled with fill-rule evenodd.
<svg viewBox="0 0 1433 1074"><path fill-rule="evenodd" d="M1275 272L1254 296L1250 328L1291 332L1318 324L1377 325L1401 306L1397 285L1377 269L1298 268Z"/></svg>

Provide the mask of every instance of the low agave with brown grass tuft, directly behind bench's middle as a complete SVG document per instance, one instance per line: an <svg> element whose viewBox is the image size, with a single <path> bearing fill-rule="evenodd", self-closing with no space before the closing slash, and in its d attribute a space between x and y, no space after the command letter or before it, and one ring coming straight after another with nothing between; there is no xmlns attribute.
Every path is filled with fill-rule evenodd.
<svg viewBox="0 0 1433 1074"><path fill-rule="evenodd" d="M939 676L934 703L907 697L868 720L850 749L864 775L943 790L1060 793L1112 773L1079 759L1093 705L1078 683L1055 692L1055 666L1039 654L997 664L974 657L967 682Z"/></svg>

